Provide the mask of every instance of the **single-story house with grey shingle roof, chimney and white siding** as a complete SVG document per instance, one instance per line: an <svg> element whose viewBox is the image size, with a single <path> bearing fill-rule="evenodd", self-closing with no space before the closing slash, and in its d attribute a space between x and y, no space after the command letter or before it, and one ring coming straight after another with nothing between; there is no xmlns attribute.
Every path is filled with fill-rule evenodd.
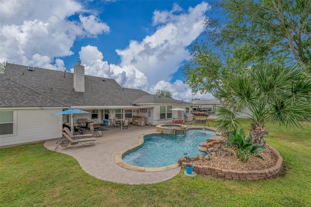
<svg viewBox="0 0 311 207"><path fill-rule="evenodd" d="M7 63L0 74L0 146L61 137L70 115L52 114L69 108L89 112L75 114L74 124L81 118L100 124L113 117L143 116L146 124L156 125L178 116L170 109L190 110L191 105L87 76L80 61L74 73Z"/></svg>

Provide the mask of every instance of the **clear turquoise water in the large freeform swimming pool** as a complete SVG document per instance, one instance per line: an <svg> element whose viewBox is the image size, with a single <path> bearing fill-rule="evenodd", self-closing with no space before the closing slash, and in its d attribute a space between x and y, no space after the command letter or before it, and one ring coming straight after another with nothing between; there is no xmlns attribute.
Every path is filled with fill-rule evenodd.
<svg viewBox="0 0 311 207"><path fill-rule="evenodd" d="M205 129L188 129L187 133L179 135L150 134L144 137L144 143L122 156L125 163L138 167L162 167L174 164L179 158L196 157L199 143L216 133Z"/></svg>

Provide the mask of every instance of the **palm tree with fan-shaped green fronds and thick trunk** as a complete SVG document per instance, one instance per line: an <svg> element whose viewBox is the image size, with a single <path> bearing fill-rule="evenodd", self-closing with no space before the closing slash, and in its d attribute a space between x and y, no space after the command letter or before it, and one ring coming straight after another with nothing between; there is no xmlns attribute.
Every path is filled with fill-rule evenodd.
<svg viewBox="0 0 311 207"><path fill-rule="evenodd" d="M217 130L233 131L238 113L246 112L252 119L250 133L256 145L265 145L266 121L301 127L300 121L311 120L311 78L297 64L253 66L248 74L229 77L215 96L225 104L216 109L221 118Z"/></svg>

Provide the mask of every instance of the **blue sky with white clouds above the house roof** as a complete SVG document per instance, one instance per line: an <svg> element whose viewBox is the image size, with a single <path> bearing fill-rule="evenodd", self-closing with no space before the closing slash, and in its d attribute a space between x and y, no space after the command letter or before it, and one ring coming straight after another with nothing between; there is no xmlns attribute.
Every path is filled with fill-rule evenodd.
<svg viewBox="0 0 311 207"><path fill-rule="evenodd" d="M178 100L191 94L182 69L212 6L202 0L0 0L0 62L116 80Z"/></svg>

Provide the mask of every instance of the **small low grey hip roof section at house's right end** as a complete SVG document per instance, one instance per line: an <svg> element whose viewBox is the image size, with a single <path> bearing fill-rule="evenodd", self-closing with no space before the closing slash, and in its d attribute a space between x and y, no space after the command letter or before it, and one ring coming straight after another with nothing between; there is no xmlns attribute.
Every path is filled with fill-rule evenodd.
<svg viewBox="0 0 311 207"><path fill-rule="evenodd" d="M157 95L141 96L140 98L132 102L132 104L148 104L148 103L188 104L188 105L191 104L189 102Z"/></svg>

